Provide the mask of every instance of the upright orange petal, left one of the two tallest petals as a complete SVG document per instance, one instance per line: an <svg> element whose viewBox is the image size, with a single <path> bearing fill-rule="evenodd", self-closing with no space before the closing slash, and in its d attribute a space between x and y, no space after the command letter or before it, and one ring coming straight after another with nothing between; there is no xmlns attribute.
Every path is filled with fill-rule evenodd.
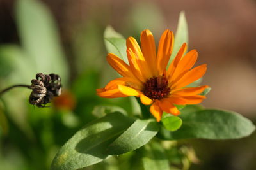
<svg viewBox="0 0 256 170"><path fill-rule="evenodd" d="M145 29L141 32L140 41L141 50L150 67L150 71L153 76L158 76L156 68L156 45L153 34L148 29Z"/></svg>

